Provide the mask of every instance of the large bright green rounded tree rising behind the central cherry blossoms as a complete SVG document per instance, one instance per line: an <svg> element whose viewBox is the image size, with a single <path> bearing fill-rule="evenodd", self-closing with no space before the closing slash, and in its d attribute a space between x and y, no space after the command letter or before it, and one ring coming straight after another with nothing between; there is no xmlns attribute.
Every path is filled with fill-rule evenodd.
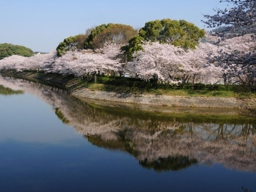
<svg viewBox="0 0 256 192"><path fill-rule="evenodd" d="M140 29L138 36L132 38L122 50L126 51L128 60L131 60L134 51L142 50L141 44L144 41L168 43L180 46L185 50L195 49L198 41L205 34L205 30L185 20L154 20L146 22L145 26Z"/></svg>

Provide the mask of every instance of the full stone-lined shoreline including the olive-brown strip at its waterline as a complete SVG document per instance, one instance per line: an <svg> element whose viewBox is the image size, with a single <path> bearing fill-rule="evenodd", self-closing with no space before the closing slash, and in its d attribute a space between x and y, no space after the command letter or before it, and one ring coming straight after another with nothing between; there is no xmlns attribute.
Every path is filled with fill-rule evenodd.
<svg viewBox="0 0 256 192"><path fill-rule="evenodd" d="M90 89L76 82L74 77L42 72L17 72L2 70L3 76L22 78L34 82L64 88L73 96L102 106L118 106L161 112L196 112L200 114L238 114L242 101L238 98L170 96L156 94L135 94Z"/></svg>

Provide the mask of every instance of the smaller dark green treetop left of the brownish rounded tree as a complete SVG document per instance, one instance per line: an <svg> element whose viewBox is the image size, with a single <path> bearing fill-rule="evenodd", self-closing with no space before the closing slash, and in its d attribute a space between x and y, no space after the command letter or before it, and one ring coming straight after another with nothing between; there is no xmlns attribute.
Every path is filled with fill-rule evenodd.
<svg viewBox="0 0 256 192"><path fill-rule="evenodd" d="M84 41L88 35L85 34L79 34L76 36L70 36L63 40L63 42L60 42L57 50L57 55L60 57L65 54L66 51L72 50L72 49L83 49L84 48Z"/></svg>

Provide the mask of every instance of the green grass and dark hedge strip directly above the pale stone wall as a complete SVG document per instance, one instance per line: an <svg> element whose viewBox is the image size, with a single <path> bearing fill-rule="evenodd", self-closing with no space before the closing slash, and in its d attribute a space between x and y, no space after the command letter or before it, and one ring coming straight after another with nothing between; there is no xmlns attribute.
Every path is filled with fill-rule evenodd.
<svg viewBox="0 0 256 192"><path fill-rule="evenodd" d="M129 92L140 94L158 94L158 95L173 95L173 96L204 96L204 97L234 97L240 98L249 96L256 98L256 92L241 91L240 86L224 86L224 85L203 85L195 84L192 88L191 84L180 84L179 86L154 86L146 82L136 81L132 78L112 79L110 77L98 77L97 83L82 79L73 80L79 82L82 86L114 92ZM113 84L114 81L114 84ZM99 83L101 82L101 83ZM103 83L102 83L103 82Z"/></svg>

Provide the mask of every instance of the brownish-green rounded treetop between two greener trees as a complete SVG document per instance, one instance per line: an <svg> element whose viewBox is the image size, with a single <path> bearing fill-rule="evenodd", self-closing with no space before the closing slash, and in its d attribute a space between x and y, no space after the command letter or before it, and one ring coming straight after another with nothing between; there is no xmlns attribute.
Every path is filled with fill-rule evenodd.
<svg viewBox="0 0 256 192"><path fill-rule="evenodd" d="M135 36L137 31L132 26L124 24L102 24L92 29L90 35L84 43L84 48L102 48L107 41L116 44L126 44L128 40Z"/></svg>

